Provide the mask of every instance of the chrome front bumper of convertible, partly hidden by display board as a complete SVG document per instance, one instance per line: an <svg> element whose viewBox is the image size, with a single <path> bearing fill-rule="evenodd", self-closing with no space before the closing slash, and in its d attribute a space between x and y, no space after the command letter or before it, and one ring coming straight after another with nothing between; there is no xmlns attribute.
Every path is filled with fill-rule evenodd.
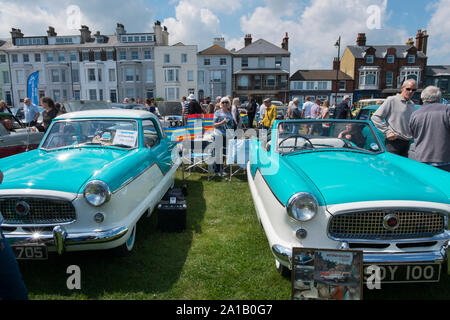
<svg viewBox="0 0 450 320"><path fill-rule="evenodd" d="M447 259L447 249L450 241L445 242L439 251L429 252L402 252L402 253L363 253L363 263L365 265L389 264L389 263L442 263ZM326 250L324 248L324 250ZM291 265L292 248L281 245L273 245L272 253L284 264Z"/></svg>

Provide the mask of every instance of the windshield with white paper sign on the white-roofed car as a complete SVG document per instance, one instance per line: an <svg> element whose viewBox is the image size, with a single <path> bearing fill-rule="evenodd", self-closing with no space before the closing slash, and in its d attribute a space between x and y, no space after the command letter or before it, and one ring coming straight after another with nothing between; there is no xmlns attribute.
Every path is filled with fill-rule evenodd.
<svg viewBox="0 0 450 320"><path fill-rule="evenodd" d="M41 149L102 146L132 149L138 146L135 120L62 120L55 122Z"/></svg>

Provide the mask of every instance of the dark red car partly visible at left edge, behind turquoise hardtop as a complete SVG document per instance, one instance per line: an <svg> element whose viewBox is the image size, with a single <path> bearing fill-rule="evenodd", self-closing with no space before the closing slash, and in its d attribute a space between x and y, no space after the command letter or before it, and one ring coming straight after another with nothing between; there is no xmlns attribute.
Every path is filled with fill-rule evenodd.
<svg viewBox="0 0 450 320"><path fill-rule="evenodd" d="M13 131L7 130L3 120L11 123ZM36 149L44 133L22 127L10 113L0 113L0 158Z"/></svg>

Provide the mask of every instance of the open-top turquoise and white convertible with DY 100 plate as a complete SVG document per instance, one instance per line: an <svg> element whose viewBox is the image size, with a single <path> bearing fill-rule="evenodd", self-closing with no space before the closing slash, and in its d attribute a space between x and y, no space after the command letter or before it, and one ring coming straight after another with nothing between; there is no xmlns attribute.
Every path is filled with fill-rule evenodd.
<svg viewBox="0 0 450 320"><path fill-rule="evenodd" d="M247 169L280 273L294 247L354 249L382 281L438 281L450 174L387 153L370 122L276 121L251 141Z"/></svg>

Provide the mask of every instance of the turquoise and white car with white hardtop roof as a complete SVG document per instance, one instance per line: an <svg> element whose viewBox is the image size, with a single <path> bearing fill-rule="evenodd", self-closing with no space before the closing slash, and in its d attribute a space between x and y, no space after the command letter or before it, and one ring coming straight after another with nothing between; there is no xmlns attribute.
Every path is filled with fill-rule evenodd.
<svg viewBox="0 0 450 320"><path fill-rule="evenodd" d="M1 227L16 257L130 252L138 220L173 186L179 163L172 151L158 119L146 111L55 118L38 149L0 160Z"/></svg>

